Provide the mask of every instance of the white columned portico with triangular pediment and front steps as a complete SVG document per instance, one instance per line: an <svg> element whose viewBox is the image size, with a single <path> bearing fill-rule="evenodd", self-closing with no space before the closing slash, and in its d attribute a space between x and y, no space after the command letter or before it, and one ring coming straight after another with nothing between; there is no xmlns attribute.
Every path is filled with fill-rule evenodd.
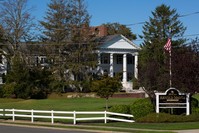
<svg viewBox="0 0 199 133"><path fill-rule="evenodd" d="M105 36L97 47L98 72L114 77L122 74L123 90L133 89L132 78L138 78L139 47L123 35Z"/></svg>

